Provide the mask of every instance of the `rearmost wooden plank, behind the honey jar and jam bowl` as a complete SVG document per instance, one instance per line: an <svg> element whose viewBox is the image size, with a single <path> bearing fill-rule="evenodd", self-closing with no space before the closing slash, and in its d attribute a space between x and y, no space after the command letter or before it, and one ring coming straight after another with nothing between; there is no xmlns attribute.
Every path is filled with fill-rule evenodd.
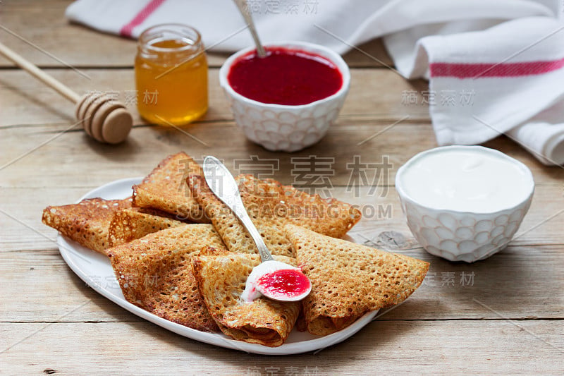
<svg viewBox="0 0 564 376"><path fill-rule="evenodd" d="M69 23L64 13L70 3L71 0L4 0L1 4L4 16L2 25L5 28L30 40L58 60L8 35L4 30L0 30L2 42L42 67L133 67L137 42ZM33 25L33 28L28 25ZM344 56L350 66L382 67L393 64L381 40L364 43L358 48L360 51L353 50ZM209 66L221 66L228 55L208 53ZM0 57L0 68L11 66L13 64L10 61Z"/></svg>

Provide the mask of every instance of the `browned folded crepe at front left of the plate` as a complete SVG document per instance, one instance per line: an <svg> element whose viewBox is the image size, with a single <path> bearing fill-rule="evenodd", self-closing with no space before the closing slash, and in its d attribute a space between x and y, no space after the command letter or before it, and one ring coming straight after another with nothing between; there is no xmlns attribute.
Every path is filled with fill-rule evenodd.
<svg viewBox="0 0 564 376"><path fill-rule="evenodd" d="M108 256L127 301L180 325L217 332L192 274L192 257L207 246L225 250L211 224L183 224L110 248Z"/></svg>

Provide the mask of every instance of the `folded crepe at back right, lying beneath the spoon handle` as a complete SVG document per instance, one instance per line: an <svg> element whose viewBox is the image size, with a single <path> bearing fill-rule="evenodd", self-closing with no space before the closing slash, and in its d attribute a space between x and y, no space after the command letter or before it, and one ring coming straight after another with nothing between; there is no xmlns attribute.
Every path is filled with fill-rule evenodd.
<svg viewBox="0 0 564 376"><path fill-rule="evenodd" d="M236 180L243 204L273 255L295 256L284 235L286 224L340 238L360 220L359 210L334 198L322 199L319 195L309 195L278 181L252 175L240 175ZM202 176L190 175L188 186L231 252L257 253L245 227L216 198Z"/></svg>

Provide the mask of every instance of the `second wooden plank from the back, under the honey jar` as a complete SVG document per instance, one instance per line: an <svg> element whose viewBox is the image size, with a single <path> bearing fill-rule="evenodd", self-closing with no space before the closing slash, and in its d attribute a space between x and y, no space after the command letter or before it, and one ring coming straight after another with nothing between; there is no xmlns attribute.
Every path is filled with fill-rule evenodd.
<svg viewBox="0 0 564 376"><path fill-rule="evenodd" d="M70 69L47 69L47 73L82 94L90 91L111 92L128 105L135 124L145 123L138 114L130 93L135 95L133 69L82 69L90 79ZM219 87L219 69L209 70L209 111L202 121L232 120L227 99ZM426 90L423 80L406 81L393 71L359 68L351 71L350 92L341 116L347 119L428 121L429 109L423 105L402 103L403 92ZM380 90L388 87L386 90ZM393 89L389 89L393 88ZM374 94L377 92L377 94ZM142 93L139 100L142 100ZM20 70L3 71L0 78L0 126L75 121L74 106L49 87ZM158 100L158 97L157 97ZM405 102L405 101L404 101Z"/></svg>

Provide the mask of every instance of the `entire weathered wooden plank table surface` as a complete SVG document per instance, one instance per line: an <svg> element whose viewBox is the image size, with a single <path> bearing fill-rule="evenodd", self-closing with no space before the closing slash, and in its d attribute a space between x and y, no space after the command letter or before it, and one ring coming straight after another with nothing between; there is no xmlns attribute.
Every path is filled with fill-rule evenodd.
<svg viewBox="0 0 564 376"><path fill-rule="evenodd" d="M123 99L135 90L135 42L68 23L68 3L1 1L1 42L78 92L113 91ZM427 254L407 229L393 185L407 159L436 147L427 105L421 104L427 83L407 81L387 68L391 61L380 41L359 49L345 56L352 83L337 123L319 144L294 154L268 152L245 140L219 89L218 69L226 57L221 54L209 55L209 111L184 128L207 145L145 123L134 105L128 140L101 145L72 126L71 104L0 59L0 374L562 374L563 169L543 166L508 138L487 142L527 164L537 183L517 236L501 253L474 264ZM407 92L417 93L417 104L403 100ZM331 195L364 209L355 234L370 245L431 262L429 277L405 303L350 339L293 356L202 344L128 313L68 268L56 231L41 223L42 209L74 202L118 178L143 176L180 150L198 158L214 154L230 167L237 160L250 163L252 156L277 159L272 176L297 186L305 182L292 158L329 161L323 174ZM387 158L388 176L351 179L355 156L372 164ZM394 241L386 231L396 231Z"/></svg>

